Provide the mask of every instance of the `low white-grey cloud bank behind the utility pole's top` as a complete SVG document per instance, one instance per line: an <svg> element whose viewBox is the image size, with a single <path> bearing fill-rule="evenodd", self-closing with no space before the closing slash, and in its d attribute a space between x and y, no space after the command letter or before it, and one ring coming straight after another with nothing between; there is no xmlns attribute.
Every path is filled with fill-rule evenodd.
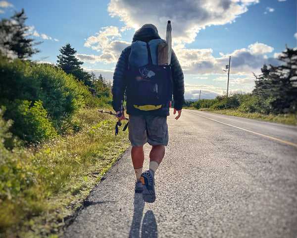
<svg viewBox="0 0 297 238"><path fill-rule="evenodd" d="M173 49L185 74L223 74L229 56L232 74L250 75L251 72L260 72L264 63L279 64L278 60L265 55L272 52L273 48L258 42L249 45L248 49L236 50L220 58L212 56L212 49L185 49L181 46Z"/></svg>

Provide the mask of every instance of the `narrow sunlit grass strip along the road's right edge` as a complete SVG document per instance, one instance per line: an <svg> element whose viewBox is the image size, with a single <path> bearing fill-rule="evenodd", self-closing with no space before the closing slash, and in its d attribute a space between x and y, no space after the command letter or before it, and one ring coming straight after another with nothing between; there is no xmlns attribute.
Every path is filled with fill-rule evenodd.
<svg viewBox="0 0 297 238"><path fill-rule="evenodd" d="M187 108L187 109L197 110L195 108ZM291 125L297 124L297 116L295 114L265 115L260 113L245 113L245 112L240 112L238 110L231 110L231 109L213 110L209 108L199 109L199 111L207 111L212 113L225 114L225 115L231 115L231 116L249 118L249 119L266 120L266 121L285 123L285 124L291 124Z"/></svg>

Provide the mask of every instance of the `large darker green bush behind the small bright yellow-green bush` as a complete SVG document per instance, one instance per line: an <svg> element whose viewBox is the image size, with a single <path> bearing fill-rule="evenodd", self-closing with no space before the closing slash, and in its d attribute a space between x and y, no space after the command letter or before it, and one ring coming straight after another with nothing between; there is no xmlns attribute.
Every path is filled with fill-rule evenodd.
<svg viewBox="0 0 297 238"><path fill-rule="evenodd" d="M0 57L0 67L0 103L41 100L56 128L92 98L88 87L53 65Z"/></svg>

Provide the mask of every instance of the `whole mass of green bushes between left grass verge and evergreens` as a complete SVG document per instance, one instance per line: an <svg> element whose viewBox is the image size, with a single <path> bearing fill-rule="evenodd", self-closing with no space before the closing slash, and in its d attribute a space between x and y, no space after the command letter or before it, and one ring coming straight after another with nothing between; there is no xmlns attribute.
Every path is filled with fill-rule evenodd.
<svg viewBox="0 0 297 238"><path fill-rule="evenodd" d="M0 56L0 68L0 105L7 108L3 117L13 119L10 131L27 142L53 137L52 127L62 133L66 122L82 107L108 104L104 97L93 97L89 87L73 75L53 65Z"/></svg>

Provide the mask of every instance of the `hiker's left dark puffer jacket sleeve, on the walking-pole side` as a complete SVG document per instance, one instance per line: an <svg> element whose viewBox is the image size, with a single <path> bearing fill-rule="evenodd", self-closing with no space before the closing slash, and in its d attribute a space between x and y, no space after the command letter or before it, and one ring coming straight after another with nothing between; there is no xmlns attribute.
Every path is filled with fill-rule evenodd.
<svg viewBox="0 0 297 238"><path fill-rule="evenodd" d="M131 47L124 49L116 63L112 83L112 108L115 112L122 110L121 101L124 101L126 90L125 72L128 69L128 58Z"/></svg>

